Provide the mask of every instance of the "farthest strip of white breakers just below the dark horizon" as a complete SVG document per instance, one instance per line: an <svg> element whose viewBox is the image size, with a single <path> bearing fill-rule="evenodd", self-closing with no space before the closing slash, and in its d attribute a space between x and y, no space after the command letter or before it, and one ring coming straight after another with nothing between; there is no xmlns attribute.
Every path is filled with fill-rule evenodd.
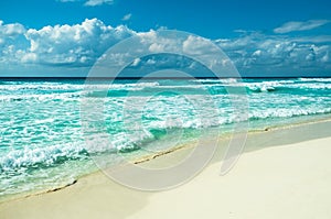
<svg viewBox="0 0 331 219"><path fill-rule="evenodd" d="M145 81L145 83L127 83L127 84L61 84L61 83L12 83L0 85L0 101L21 101L23 99L39 99L36 96L43 96L43 98L51 98L51 96L44 96L46 94L74 94L66 97L103 97L106 90L114 96L125 96L126 91L162 91L162 90L175 90L175 91L194 91L197 89L210 90L212 94L216 90L218 92L226 92L227 87L244 87L250 92L274 92L286 89L313 89L313 90L329 90L331 89L331 78L300 78L288 80L267 80L258 81L253 79L244 79L239 81L235 78L228 79L196 79L190 80L192 84L183 85L169 85L159 81ZM197 83L197 84L196 84ZM225 89L223 89L225 88ZM221 90L220 90L221 89ZM20 91L21 97L12 97L13 91ZM134 94L134 92L131 92ZM30 96L28 96L30 95ZM34 96L35 95L35 96ZM139 95L139 94L138 94ZM6 97L4 97L6 96ZM7 97L11 96L11 97ZM60 96L54 96L55 98ZM61 97L60 97L61 98Z"/></svg>

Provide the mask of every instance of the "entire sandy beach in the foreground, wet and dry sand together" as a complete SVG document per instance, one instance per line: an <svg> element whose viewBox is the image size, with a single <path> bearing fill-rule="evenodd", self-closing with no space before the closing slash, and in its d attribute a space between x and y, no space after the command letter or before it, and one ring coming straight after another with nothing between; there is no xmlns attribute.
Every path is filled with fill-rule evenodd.
<svg viewBox="0 0 331 219"><path fill-rule="evenodd" d="M331 122L249 133L245 153L220 176L228 139L211 164L174 189L147 193L103 173L72 186L0 204L1 219L39 218L331 218ZM179 150L139 165L178 161Z"/></svg>

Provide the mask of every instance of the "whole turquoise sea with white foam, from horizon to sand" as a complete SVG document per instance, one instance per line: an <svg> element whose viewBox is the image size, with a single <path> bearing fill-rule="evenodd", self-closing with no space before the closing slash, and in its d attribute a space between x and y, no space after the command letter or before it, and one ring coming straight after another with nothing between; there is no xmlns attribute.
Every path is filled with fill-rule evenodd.
<svg viewBox="0 0 331 219"><path fill-rule="evenodd" d="M234 101L243 99L228 88L245 90L249 130L331 113L330 78L94 83L86 89L83 79L0 80L0 197L68 184L97 168L92 155L111 154L116 163L119 154L229 133L245 117L234 113ZM94 109L100 101L103 108ZM83 129L93 117L82 118L82 111L98 111L103 122Z"/></svg>

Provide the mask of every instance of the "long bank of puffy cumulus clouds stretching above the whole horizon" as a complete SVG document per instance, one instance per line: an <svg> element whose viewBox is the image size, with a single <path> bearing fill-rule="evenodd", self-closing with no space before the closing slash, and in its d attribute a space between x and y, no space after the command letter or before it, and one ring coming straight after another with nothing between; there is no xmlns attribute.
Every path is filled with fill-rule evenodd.
<svg viewBox="0 0 331 219"><path fill-rule="evenodd" d="M162 53L180 48L189 55L212 54L205 39L189 36L167 39L157 32L135 32L125 25L111 26L98 19L86 19L73 25L54 25L42 29L25 29L19 23L0 21L0 64L20 66L89 67L106 50L119 41L137 35L140 43L149 43L150 53ZM235 39L214 41L234 62L242 73L331 70L331 36L266 35L258 32L242 33ZM122 57L113 57L119 62ZM222 61L220 61L222 62ZM182 57L137 57L131 67L142 65L160 68L179 66L194 67L194 63Z"/></svg>

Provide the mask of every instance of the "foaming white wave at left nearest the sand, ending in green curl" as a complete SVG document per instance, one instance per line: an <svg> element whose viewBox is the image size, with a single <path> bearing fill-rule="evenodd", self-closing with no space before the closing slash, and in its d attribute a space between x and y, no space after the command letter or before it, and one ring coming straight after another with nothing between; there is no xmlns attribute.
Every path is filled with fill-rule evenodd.
<svg viewBox="0 0 331 219"><path fill-rule="evenodd" d="M167 134L166 130L150 130L145 134L128 134L125 132L111 134L95 134L86 142L67 143L44 147L15 149L9 152L0 150L0 174L11 175L33 169L49 168L68 161L88 160L90 155L128 153L141 149L147 143L156 141ZM109 141L105 136L111 136ZM2 153L2 154L1 154ZM1 177L0 177L1 178Z"/></svg>

